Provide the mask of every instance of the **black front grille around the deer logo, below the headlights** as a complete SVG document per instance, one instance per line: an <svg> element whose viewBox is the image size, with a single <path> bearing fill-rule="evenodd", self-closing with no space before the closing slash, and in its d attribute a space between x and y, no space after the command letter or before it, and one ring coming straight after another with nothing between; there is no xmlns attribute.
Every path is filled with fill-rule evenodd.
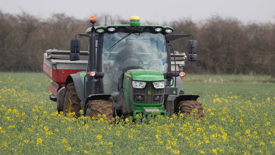
<svg viewBox="0 0 275 155"><path fill-rule="evenodd" d="M163 94L164 94L164 89L155 89L152 85L152 82L147 82L145 89L134 89L132 87L132 81L130 81L130 87L132 88L131 91L131 96L134 101L134 103L139 103L139 104L160 104L163 102ZM130 88L130 90L131 90ZM148 95L147 92L151 91L151 95ZM144 100L139 101L136 95L134 94L144 94ZM154 101L154 95L155 94L161 94L161 98L158 101Z"/></svg>

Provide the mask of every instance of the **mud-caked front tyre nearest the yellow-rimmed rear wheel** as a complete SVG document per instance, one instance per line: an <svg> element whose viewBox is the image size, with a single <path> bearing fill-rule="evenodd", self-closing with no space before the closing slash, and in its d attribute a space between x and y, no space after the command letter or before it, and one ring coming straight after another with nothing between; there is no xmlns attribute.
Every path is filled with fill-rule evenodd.
<svg viewBox="0 0 275 155"><path fill-rule="evenodd" d="M98 114L101 116L105 114L108 120L113 118L112 104L106 100L91 100L86 104L86 111L84 110L85 116L98 118Z"/></svg>

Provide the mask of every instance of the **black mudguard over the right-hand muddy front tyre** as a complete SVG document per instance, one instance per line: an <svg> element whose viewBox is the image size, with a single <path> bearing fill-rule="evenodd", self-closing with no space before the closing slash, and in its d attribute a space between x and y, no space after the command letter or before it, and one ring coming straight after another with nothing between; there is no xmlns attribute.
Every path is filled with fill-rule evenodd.
<svg viewBox="0 0 275 155"><path fill-rule="evenodd" d="M168 112L168 116L171 117L175 112L175 108L177 107L180 101L186 100L194 100L196 101L200 96L199 95L191 95L191 94L184 94L184 95L169 95L164 103L165 109Z"/></svg>

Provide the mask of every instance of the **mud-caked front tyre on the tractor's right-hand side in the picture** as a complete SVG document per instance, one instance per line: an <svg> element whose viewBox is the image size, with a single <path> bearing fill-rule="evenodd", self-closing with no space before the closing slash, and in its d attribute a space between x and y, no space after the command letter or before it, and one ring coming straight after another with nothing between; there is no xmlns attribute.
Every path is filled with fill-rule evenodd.
<svg viewBox="0 0 275 155"><path fill-rule="evenodd" d="M192 113L194 109L197 109L197 117L203 117L204 116L204 109L202 107L202 104L198 101L193 100L187 100L187 101L180 101L175 109L176 113L179 111L181 113Z"/></svg>

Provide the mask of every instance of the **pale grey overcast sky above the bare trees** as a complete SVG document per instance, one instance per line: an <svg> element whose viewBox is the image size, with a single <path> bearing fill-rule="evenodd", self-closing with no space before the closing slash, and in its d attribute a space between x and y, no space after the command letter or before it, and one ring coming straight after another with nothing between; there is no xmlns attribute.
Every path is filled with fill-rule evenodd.
<svg viewBox="0 0 275 155"><path fill-rule="evenodd" d="M80 19L93 14L137 15L142 20L159 22L191 18L199 21L212 15L235 17L246 22L275 22L275 0L0 0L4 13L22 11L38 17L66 13Z"/></svg>

